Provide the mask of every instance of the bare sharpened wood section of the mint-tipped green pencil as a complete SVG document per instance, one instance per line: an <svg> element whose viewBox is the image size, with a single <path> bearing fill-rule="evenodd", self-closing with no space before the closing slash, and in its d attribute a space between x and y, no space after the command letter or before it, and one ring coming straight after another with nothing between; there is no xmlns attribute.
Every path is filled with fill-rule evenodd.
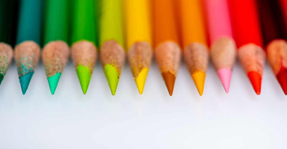
<svg viewBox="0 0 287 149"><path fill-rule="evenodd" d="M42 51L47 78L61 73L69 58L69 46L64 41L50 41Z"/></svg>

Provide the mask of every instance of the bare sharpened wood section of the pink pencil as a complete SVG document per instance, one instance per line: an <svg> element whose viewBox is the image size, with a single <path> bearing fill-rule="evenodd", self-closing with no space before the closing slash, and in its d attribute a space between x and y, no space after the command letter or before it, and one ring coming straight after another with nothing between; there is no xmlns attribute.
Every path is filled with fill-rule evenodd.
<svg viewBox="0 0 287 149"><path fill-rule="evenodd" d="M220 37L210 48L210 57L216 71L221 68L232 69L236 58L236 44L230 37Z"/></svg>

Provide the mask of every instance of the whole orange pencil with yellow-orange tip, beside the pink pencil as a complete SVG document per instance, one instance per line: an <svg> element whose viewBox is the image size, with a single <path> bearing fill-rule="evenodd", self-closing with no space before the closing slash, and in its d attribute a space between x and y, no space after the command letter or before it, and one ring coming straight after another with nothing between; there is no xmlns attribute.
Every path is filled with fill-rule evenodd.
<svg viewBox="0 0 287 149"><path fill-rule="evenodd" d="M208 45L201 0L180 0L183 58L200 96L208 66Z"/></svg>

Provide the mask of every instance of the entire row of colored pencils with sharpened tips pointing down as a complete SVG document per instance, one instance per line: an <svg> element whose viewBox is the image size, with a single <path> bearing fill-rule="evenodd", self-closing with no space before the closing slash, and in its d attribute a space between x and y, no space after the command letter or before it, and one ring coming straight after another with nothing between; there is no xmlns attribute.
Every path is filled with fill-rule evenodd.
<svg viewBox="0 0 287 149"><path fill-rule="evenodd" d="M0 1L0 83L15 44L23 94L40 55L54 94L71 53L84 94L99 55L114 95L127 53L140 94L154 55L171 96L183 53L200 95L209 55L227 93L237 55L256 94L267 57L287 95L286 40L285 0Z"/></svg>

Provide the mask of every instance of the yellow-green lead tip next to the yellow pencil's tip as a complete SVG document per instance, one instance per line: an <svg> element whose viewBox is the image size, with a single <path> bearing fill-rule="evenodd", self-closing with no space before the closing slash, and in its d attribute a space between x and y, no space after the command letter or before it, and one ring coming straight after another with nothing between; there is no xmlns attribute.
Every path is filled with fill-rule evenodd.
<svg viewBox="0 0 287 149"><path fill-rule="evenodd" d="M104 66L104 72L108 80L108 85L110 86L110 91L113 95L115 95L119 82L117 70L113 67L113 65L106 64Z"/></svg>

